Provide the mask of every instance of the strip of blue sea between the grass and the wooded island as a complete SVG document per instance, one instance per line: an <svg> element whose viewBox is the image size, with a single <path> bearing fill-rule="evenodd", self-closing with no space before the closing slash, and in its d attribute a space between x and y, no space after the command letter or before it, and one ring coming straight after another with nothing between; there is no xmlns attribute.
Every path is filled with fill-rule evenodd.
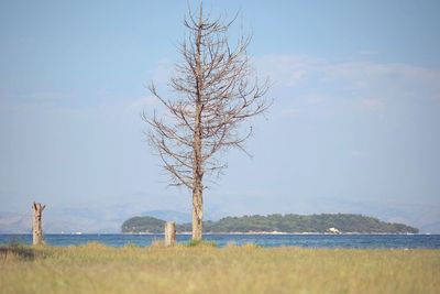
<svg viewBox="0 0 440 294"><path fill-rule="evenodd" d="M125 244L150 246L163 240L164 235L57 235L44 236L51 246L78 246L88 242L101 242L111 247ZM189 235L177 235L177 242L188 242ZM254 243L262 247L305 247L305 248L429 248L440 249L440 235L205 235L204 239L213 241L219 247L228 243ZM32 243L32 235L0 235L0 244Z"/></svg>

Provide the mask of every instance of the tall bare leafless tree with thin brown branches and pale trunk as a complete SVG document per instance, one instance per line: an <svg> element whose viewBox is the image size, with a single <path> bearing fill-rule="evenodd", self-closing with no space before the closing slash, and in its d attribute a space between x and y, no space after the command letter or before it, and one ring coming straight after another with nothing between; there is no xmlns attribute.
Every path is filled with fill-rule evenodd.
<svg viewBox="0 0 440 294"><path fill-rule="evenodd" d="M151 126L148 142L170 175L170 185L193 192L194 240L201 239L204 181L227 167L220 151L244 151L252 127L240 126L268 107L268 83L258 85L246 54L251 39L241 36L231 46L227 32L234 20L210 21L201 3L197 14L189 12L184 21L189 34L179 46L183 62L176 64L169 83L176 99L165 99L154 84L150 86L165 107L166 121L156 113L143 115Z"/></svg>

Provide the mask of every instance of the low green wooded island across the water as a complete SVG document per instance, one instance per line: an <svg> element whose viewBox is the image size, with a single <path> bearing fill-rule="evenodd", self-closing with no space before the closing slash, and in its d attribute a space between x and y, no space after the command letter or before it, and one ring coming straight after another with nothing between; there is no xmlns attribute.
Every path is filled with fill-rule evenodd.
<svg viewBox="0 0 440 294"><path fill-rule="evenodd" d="M161 233L165 220L154 217L133 217L122 224L124 233ZM177 232L191 231L191 224L177 225ZM262 232L360 232L360 233L418 233L419 230L403 224L385 222L377 218L353 214L268 215L226 217L218 221L204 221L206 233L262 233Z"/></svg>

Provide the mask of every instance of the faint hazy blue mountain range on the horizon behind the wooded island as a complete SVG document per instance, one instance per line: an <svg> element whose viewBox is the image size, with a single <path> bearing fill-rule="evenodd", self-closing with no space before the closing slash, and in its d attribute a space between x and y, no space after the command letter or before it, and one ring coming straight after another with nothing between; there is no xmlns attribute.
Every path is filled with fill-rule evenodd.
<svg viewBox="0 0 440 294"><path fill-rule="evenodd" d="M207 206L205 220L219 220L226 216L244 215L252 207L239 202L226 213L219 208L227 207L226 203L217 206ZM343 200L319 199L312 205L296 206L301 214L315 211L355 213L370 215L387 222L408 224L420 229L422 233L440 233L440 208L438 206L415 205L387 205L365 204ZM111 233L120 232L121 224L132 216L151 216L163 220L174 220L179 225L190 222L190 209L145 209L151 208L144 203L112 204L108 206L73 206L59 207L47 204L43 213L43 230L48 233L57 232L84 232L84 233ZM226 208L224 208L226 209ZM31 209L30 209L31 210ZM286 213L286 211L285 211ZM287 211L288 213L288 211ZM13 213L0 211L0 233L29 233L32 227L31 211Z"/></svg>

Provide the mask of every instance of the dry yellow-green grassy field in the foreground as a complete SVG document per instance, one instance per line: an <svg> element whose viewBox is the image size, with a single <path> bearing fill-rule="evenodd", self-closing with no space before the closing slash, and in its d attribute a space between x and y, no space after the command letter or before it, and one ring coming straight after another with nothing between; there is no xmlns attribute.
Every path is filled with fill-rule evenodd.
<svg viewBox="0 0 440 294"><path fill-rule="evenodd" d="M440 250L0 248L0 293L439 293Z"/></svg>

